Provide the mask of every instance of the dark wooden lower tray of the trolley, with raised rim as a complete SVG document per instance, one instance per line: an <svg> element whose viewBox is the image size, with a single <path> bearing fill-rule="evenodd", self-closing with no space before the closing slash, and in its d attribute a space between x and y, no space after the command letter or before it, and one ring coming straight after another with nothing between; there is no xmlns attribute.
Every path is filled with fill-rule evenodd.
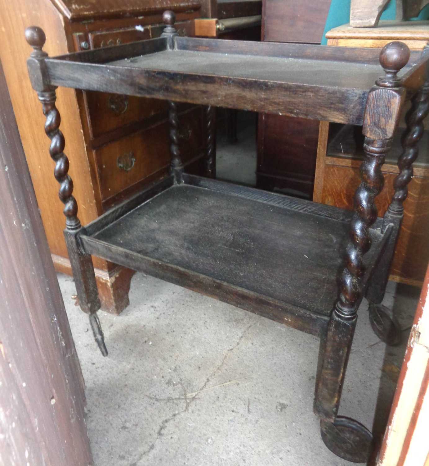
<svg viewBox="0 0 429 466"><path fill-rule="evenodd" d="M99 217L81 236L106 260L318 334L338 295L351 212L184 175ZM387 234L371 229L367 274Z"/></svg>

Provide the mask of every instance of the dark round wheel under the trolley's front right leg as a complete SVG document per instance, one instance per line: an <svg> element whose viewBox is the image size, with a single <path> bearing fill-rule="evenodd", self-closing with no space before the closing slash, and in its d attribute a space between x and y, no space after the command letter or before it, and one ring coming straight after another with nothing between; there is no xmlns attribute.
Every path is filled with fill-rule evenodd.
<svg viewBox="0 0 429 466"><path fill-rule="evenodd" d="M322 440L336 456L353 463L367 463L372 452L372 434L360 422L337 416L320 421Z"/></svg>

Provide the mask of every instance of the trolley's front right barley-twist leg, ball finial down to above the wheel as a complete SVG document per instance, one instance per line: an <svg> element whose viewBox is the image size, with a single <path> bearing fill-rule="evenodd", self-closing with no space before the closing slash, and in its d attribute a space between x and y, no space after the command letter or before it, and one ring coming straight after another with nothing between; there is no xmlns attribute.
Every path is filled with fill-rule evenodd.
<svg viewBox="0 0 429 466"><path fill-rule="evenodd" d="M362 260L371 246L369 228L377 218L374 201L384 184L384 156L392 144L405 98L405 90L401 88L397 73L407 64L409 55L409 48L402 42L390 42L384 46L380 63L385 75L375 82L368 94L362 129L365 136L362 181L355 192L354 216L340 280L340 295L319 353L314 410L320 418L329 421L335 420L338 412L357 308L362 300Z"/></svg>

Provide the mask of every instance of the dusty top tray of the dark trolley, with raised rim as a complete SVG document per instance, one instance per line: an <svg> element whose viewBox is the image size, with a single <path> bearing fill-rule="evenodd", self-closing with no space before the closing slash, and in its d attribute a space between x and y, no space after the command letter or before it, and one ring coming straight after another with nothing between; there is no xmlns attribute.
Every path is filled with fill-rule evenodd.
<svg viewBox="0 0 429 466"><path fill-rule="evenodd" d="M49 84L362 124L379 49L173 36L46 58ZM428 55L398 76L422 85ZM30 69L31 74L31 69Z"/></svg>

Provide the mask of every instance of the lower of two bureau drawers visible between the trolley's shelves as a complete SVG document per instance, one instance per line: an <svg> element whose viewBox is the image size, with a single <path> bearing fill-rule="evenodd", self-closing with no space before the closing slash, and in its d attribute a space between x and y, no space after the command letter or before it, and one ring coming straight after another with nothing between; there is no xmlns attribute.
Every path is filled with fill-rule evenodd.
<svg viewBox="0 0 429 466"><path fill-rule="evenodd" d="M201 107L179 115L183 161L202 147ZM121 138L95 150L101 196L106 200L170 164L168 122Z"/></svg>

